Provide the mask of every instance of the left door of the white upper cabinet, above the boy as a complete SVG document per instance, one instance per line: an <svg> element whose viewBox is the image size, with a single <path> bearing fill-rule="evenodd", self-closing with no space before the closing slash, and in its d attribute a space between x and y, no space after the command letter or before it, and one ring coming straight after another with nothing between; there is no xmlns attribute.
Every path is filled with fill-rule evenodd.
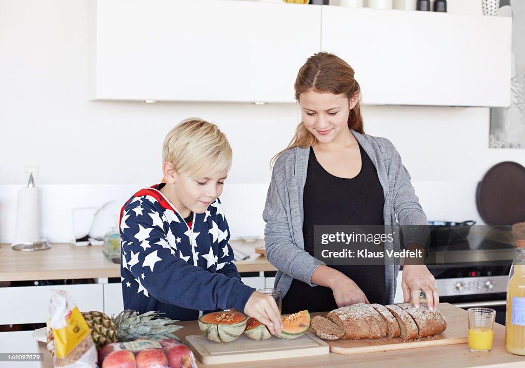
<svg viewBox="0 0 525 368"><path fill-rule="evenodd" d="M293 102L321 45L321 6L227 0L100 0L90 99Z"/></svg>

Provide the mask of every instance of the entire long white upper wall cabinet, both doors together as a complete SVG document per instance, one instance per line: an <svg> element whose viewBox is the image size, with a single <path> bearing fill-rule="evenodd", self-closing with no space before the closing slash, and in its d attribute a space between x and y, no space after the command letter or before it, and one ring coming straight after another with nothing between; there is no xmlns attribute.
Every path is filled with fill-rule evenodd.
<svg viewBox="0 0 525 368"><path fill-rule="evenodd" d="M510 104L510 18L230 0L103 0L92 18L93 100L291 103L323 50L366 104Z"/></svg>

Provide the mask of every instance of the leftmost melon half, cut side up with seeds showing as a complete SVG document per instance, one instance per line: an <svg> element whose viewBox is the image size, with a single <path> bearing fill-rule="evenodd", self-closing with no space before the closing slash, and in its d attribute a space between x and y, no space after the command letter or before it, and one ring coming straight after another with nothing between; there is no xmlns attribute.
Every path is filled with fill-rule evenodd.
<svg viewBox="0 0 525 368"><path fill-rule="evenodd" d="M230 342L243 334L247 320L240 312L212 312L198 319L198 327L213 342Z"/></svg>

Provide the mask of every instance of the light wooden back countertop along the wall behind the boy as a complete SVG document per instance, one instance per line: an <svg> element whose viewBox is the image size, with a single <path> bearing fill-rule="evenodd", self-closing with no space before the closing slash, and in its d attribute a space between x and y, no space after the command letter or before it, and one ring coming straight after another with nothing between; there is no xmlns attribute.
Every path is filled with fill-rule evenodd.
<svg viewBox="0 0 525 368"><path fill-rule="evenodd" d="M255 253L255 247L264 246L264 241L230 244L250 255L246 261L235 262L239 272L276 270L264 256ZM0 282L104 277L120 277L120 266L104 257L102 246L51 244L49 250L21 252L12 250L10 244L0 244Z"/></svg>

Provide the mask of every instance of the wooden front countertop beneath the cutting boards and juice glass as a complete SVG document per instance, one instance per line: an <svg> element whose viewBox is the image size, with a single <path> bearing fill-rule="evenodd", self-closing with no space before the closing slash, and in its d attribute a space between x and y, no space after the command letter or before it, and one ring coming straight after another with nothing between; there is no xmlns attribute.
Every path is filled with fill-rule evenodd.
<svg viewBox="0 0 525 368"><path fill-rule="evenodd" d="M461 312L467 313L462 310ZM197 321L177 322L183 329L176 331L176 335L184 340L186 335L200 334ZM39 351L44 353L43 368L53 368L51 356L44 343L39 343ZM406 350L393 350L375 353L342 355L330 353L328 355L308 356L308 359L275 359L257 362L228 363L204 365L197 362L201 368L247 368L247 367L348 367L370 368L406 368L406 367L523 367L525 356L512 355L505 349L505 326L496 323L494 330L494 343L491 352L473 353L466 343L445 345L432 348L418 348Z"/></svg>

